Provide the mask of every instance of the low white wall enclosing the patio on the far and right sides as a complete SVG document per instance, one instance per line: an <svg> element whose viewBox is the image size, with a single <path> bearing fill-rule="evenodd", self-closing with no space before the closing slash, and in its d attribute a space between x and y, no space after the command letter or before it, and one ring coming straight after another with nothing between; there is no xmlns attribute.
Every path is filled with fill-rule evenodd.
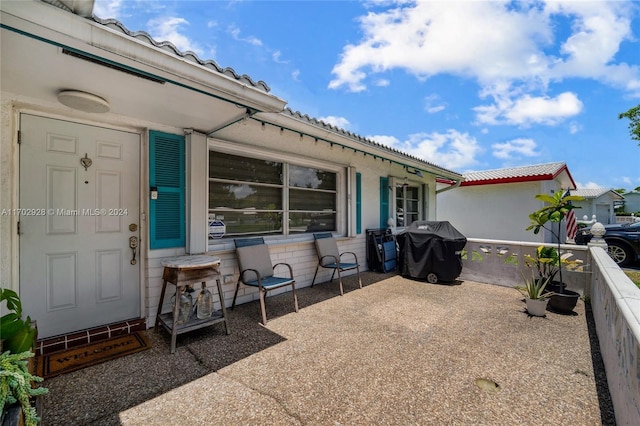
<svg viewBox="0 0 640 426"><path fill-rule="evenodd" d="M461 279L507 287L522 285L530 274L525 256L535 257L539 243L467 239ZM555 246L544 244L545 246ZM561 245L562 253L581 260L563 271L567 288L588 296L619 425L640 425L640 289L599 247Z"/></svg>

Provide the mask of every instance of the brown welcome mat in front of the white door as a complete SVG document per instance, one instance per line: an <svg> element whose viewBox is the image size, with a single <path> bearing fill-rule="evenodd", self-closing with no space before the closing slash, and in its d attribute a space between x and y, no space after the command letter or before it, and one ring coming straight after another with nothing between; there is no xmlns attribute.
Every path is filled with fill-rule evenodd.
<svg viewBox="0 0 640 426"><path fill-rule="evenodd" d="M45 379L149 349L146 336L131 333L36 357L37 375Z"/></svg>

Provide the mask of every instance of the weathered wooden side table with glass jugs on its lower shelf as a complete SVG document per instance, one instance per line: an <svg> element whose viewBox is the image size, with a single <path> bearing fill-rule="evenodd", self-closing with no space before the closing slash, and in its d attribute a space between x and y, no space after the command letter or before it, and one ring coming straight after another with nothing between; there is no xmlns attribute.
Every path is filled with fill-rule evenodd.
<svg viewBox="0 0 640 426"><path fill-rule="evenodd" d="M162 259L162 266L164 266L164 272L162 273L162 292L160 293L155 327L156 330L158 330L158 326L162 325L171 333L171 353L175 353L176 351L176 338L178 334L208 327L219 322L224 322L227 334L231 334L227 310L224 306L222 285L220 284L220 258L214 256L178 256ZM186 323L178 324L180 293L183 288L191 284L206 283L206 281L211 281L214 278L218 288L220 310L214 311L211 318L199 319L195 315L191 315ZM173 303L173 312L162 314L161 311L167 283L176 286L175 300Z"/></svg>

